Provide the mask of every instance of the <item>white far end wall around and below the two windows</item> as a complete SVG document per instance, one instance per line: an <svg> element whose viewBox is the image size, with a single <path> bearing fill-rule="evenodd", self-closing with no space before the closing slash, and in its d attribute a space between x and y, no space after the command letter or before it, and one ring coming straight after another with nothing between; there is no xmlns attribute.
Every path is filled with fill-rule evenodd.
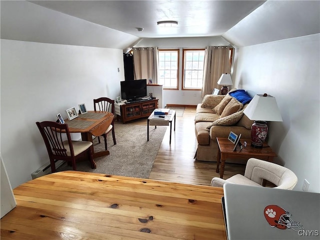
<svg viewBox="0 0 320 240"><path fill-rule="evenodd" d="M179 64L182 65L182 48L204 48L206 46L229 45L221 36L143 38L134 47L157 46L159 48L179 48ZM178 90L163 89L163 106L166 104L196 105L202 101L200 90L181 90L182 71L179 71Z"/></svg>

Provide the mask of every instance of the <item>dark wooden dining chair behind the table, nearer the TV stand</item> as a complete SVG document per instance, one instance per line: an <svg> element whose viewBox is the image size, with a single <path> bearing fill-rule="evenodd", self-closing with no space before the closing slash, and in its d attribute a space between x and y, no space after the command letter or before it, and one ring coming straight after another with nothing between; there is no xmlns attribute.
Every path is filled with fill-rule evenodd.
<svg viewBox="0 0 320 240"><path fill-rule="evenodd" d="M93 99L93 108L95 111L108 111L113 113L113 119L109 127L105 130L105 132L102 134L104 138L104 148L107 150L107 143L106 143L106 136L111 131L112 132L112 139L113 144L116 144L115 141L115 134L114 134L114 100L108 98L108 97L99 97L97 99ZM100 137L98 137L98 141L100 143Z"/></svg>

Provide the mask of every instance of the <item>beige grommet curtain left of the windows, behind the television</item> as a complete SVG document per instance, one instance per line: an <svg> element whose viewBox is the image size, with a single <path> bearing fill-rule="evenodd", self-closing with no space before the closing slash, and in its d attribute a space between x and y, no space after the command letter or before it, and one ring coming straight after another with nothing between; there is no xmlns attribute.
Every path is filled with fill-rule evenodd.
<svg viewBox="0 0 320 240"><path fill-rule="evenodd" d="M152 83L157 83L157 52L157 47L133 48L134 79L152 78Z"/></svg>

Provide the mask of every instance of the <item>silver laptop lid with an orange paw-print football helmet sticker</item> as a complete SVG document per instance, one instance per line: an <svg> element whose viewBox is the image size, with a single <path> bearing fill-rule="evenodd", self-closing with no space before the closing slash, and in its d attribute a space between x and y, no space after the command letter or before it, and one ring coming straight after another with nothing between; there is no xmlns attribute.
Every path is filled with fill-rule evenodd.
<svg viewBox="0 0 320 240"><path fill-rule="evenodd" d="M229 240L320 239L320 193L223 185Z"/></svg>

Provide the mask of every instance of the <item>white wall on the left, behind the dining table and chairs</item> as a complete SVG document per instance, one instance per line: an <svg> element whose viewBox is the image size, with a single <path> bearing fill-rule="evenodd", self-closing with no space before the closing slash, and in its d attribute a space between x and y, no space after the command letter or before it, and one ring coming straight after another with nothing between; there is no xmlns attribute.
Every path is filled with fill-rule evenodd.
<svg viewBox="0 0 320 240"><path fill-rule="evenodd" d="M120 95L121 80L121 49L1 39L0 149L12 187L48 162L36 121L79 103L93 110L93 98Z"/></svg>

